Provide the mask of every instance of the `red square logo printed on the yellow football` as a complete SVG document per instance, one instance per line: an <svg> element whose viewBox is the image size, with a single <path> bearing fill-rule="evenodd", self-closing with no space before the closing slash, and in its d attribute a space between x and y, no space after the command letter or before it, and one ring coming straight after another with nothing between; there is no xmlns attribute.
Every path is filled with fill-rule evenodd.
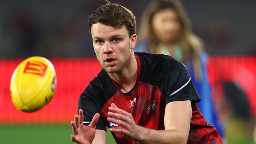
<svg viewBox="0 0 256 144"><path fill-rule="evenodd" d="M24 68L24 74L36 74L38 76L44 77L47 69L47 65L39 61L28 61Z"/></svg>

